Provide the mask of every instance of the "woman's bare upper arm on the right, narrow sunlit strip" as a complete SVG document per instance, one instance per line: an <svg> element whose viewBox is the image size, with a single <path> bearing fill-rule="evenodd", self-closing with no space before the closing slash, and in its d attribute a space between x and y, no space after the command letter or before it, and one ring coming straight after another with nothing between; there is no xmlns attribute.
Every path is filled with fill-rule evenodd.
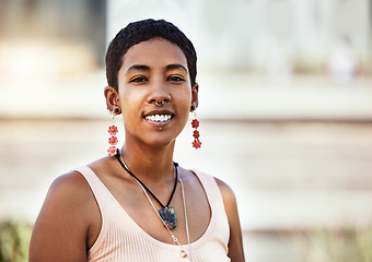
<svg viewBox="0 0 372 262"><path fill-rule="evenodd" d="M216 178L217 184L220 188L224 210L228 215L230 225L230 240L229 240L229 258L232 262L242 262L244 260L242 229L239 219L237 205L235 194L232 189L223 181Z"/></svg>

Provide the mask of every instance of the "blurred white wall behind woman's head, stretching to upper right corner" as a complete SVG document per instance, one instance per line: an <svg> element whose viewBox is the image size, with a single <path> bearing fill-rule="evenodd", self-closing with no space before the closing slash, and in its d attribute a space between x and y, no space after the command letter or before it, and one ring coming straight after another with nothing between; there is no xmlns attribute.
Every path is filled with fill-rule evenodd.
<svg viewBox="0 0 372 262"><path fill-rule="evenodd" d="M131 21L165 19L195 44L200 67L322 66L340 36L371 57L369 0L108 0L108 40Z"/></svg>

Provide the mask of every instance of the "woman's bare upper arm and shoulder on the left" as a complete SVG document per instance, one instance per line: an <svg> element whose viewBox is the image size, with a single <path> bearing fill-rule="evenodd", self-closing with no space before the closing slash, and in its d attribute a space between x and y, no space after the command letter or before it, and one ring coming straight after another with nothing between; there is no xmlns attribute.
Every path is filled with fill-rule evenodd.
<svg viewBox="0 0 372 262"><path fill-rule="evenodd" d="M86 189L78 172L53 182L35 223L30 262L86 261Z"/></svg>

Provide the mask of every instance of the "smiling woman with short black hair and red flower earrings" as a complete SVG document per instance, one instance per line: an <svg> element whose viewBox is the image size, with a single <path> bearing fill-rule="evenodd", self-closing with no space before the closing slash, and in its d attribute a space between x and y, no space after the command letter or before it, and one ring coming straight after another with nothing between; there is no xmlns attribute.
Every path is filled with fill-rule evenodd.
<svg viewBox="0 0 372 262"><path fill-rule="evenodd" d="M107 109L125 144L57 178L36 221L30 261L244 261L235 196L173 162L198 106L196 52L163 20L129 24L106 53ZM194 146L200 147L194 122Z"/></svg>

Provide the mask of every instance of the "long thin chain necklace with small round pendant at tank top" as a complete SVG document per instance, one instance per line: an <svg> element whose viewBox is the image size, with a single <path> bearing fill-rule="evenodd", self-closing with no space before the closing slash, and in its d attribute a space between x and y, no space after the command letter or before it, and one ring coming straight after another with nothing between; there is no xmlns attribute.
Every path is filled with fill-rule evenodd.
<svg viewBox="0 0 372 262"><path fill-rule="evenodd" d="M126 171L129 170L129 168L127 167L127 165L125 164L124 159L123 159L123 155L121 153L119 153L118 151L118 154L117 156L119 157L116 157L118 159L118 162L121 164L121 166L124 167L124 169ZM177 165L175 165L175 168L177 168ZM130 174L130 172L129 172ZM131 174L130 174L131 175ZM181 257L182 258L188 258L189 261L193 261L191 257L190 257L190 253L191 253L191 245L190 245L190 237L189 237L189 231L188 231L188 221L187 221L187 210L186 210L186 198L185 198L185 190L184 190L184 183L181 179L179 176L177 176L178 178L178 181L181 183L181 190L182 190L182 199L183 199L183 207L184 207L184 212L185 212L185 227L186 227L186 236L187 236L187 243L188 243L188 252L182 247L182 245L179 243L178 239L176 236L174 236L174 234L171 231L167 223L163 219L163 217L161 216L161 214L156 211L156 207L155 205L153 204L153 202L151 201L147 190L144 189L144 187L142 186L142 182L140 182L138 180L138 178L136 176L131 176L133 178L133 180L140 186L140 188L142 189L144 195L147 196L147 199L149 200L151 206L153 207L153 210L155 211L158 217L160 218L160 221L163 223L164 227L166 228L166 230L170 233L173 241L181 248ZM150 191L151 192L151 191Z"/></svg>

